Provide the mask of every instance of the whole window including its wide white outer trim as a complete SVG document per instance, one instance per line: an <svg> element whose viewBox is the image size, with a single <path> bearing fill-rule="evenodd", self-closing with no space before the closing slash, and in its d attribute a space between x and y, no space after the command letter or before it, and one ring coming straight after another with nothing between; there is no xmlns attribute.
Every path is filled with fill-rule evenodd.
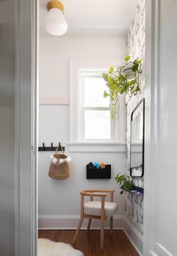
<svg viewBox="0 0 177 256"><path fill-rule="evenodd" d="M107 151L109 146L108 151L114 152L119 151L118 145L125 144L124 97L120 102L120 119L111 119L110 98L103 96L107 86L102 78L110 65L121 63L122 60L71 61L71 151Z"/></svg>

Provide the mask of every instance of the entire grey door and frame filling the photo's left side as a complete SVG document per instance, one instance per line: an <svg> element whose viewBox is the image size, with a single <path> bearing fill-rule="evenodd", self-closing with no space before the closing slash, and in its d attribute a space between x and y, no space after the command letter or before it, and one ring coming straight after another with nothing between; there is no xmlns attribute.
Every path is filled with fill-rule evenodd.
<svg viewBox="0 0 177 256"><path fill-rule="evenodd" d="M1 256L36 255L36 14L35 0L0 1Z"/></svg>

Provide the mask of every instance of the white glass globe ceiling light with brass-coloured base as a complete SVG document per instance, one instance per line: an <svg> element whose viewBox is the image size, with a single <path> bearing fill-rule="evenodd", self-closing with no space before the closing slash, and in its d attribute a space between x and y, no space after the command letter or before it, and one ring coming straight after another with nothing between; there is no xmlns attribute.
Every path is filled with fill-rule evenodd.
<svg viewBox="0 0 177 256"><path fill-rule="evenodd" d="M64 5L58 0L48 2L45 28L50 35L59 36L67 32L68 24L65 20L64 9Z"/></svg>

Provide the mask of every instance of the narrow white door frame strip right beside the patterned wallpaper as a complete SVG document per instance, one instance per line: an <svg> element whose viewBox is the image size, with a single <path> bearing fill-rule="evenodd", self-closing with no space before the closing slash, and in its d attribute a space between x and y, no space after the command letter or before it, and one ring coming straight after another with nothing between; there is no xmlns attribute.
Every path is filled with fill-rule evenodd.
<svg viewBox="0 0 177 256"><path fill-rule="evenodd" d="M143 255L154 251L157 170L157 91L160 0L145 1L145 194Z"/></svg>

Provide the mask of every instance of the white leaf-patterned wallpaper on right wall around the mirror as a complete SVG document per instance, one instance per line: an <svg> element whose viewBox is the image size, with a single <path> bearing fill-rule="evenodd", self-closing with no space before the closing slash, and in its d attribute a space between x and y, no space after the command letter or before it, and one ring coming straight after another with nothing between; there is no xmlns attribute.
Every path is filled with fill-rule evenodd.
<svg viewBox="0 0 177 256"><path fill-rule="evenodd" d="M145 0L139 0L136 5L135 15L127 35L127 55L142 59L142 68L145 61ZM144 72L142 71L142 74ZM130 171L130 114L143 98L144 75L142 75L140 95L127 99L127 170ZM133 184L143 187L143 177L133 178ZM143 235L143 195L125 192L125 216L130 224Z"/></svg>

